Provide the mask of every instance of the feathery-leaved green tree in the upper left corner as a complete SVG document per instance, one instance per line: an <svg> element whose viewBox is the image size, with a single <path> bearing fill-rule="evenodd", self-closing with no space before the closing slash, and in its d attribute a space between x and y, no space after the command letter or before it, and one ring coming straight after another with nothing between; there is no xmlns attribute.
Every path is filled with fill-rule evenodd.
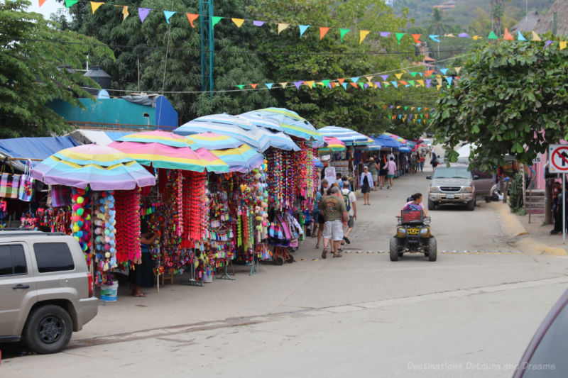
<svg viewBox="0 0 568 378"><path fill-rule="evenodd" d="M62 99L80 106L77 97L91 97L81 87L96 84L72 69L83 68L87 54L112 59L94 38L57 30L40 14L23 11L29 4L0 4L0 138L69 130L45 104Z"/></svg>

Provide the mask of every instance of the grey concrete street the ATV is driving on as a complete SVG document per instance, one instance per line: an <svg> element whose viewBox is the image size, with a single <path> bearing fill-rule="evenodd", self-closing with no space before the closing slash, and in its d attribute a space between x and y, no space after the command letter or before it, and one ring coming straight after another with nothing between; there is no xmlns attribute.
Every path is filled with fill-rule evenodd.
<svg viewBox="0 0 568 378"><path fill-rule="evenodd" d="M145 299L122 284L64 352L3 349L0 377L510 377L568 287L568 258L520 250L501 204L479 203L431 212L437 262L390 262L395 215L426 174L372 192L341 259L307 238L294 264L235 267L234 282Z"/></svg>

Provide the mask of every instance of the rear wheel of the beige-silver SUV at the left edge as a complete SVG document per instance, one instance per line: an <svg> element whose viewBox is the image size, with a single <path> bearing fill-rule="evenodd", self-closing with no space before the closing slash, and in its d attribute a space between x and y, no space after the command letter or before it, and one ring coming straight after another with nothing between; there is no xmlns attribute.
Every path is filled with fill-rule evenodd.
<svg viewBox="0 0 568 378"><path fill-rule="evenodd" d="M35 308L23 329L23 340L40 354L60 352L71 339L71 316L60 306L48 304Z"/></svg>

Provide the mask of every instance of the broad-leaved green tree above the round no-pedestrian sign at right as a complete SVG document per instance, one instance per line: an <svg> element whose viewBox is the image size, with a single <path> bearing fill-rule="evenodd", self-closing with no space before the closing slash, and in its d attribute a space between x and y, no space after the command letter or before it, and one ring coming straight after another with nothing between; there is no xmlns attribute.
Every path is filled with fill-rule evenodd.
<svg viewBox="0 0 568 378"><path fill-rule="evenodd" d="M500 41L473 52L432 114L449 160L467 141L479 146L471 157L486 169L503 165L507 153L530 163L549 143L568 139L568 50L543 45Z"/></svg>

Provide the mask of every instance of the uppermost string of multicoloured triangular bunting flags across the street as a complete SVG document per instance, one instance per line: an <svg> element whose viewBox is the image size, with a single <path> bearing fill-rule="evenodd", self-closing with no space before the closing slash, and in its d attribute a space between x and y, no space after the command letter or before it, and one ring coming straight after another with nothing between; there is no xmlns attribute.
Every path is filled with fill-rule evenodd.
<svg viewBox="0 0 568 378"><path fill-rule="evenodd" d="M38 1L39 1L39 6L42 6L45 3L46 0L38 0ZM65 6L67 8L70 8L71 6L74 6L75 4L77 4L79 2L84 2L84 1L65 0ZM107 5L107 3L103 2L103 1L89 1L89 3L91 5L91 10L92 10L93 14L101 6ZM123 21L126 20L126 18L130 15L129 8L136 8L134 6L119 5L119 4L108 4L108 5L118 7L119 9L121 9L122 15L123 15ZM151 11L160 11L158 9L152 9L152 8L137 8L137 10L138 10L138 18L140 18L141 23L143 23L144 20L146 20L146 17L148 16L148 14ZM170 23L170 19L176 14L178 14L180 16L184 16L184 13L177 12L177 11L162 10L162 12L163 12L165 21L167 23ZM197 20L197 18L200 17L200 15L197 14L197 13L185 13L185 16L187 17L187 21L189 21L191 27L195 28L194 22ZM309 28L318 29L319 35L320 35L320 40L322 40L326 35L328 35L330 30L334 30L336 32L339 32L339 39L342 42L344 40L344 37L348 33L351 33L351 35L357 35L359 37L359 44L363 43L365 38L370 33L375 33L375 35L380 37L380 38L393 38L394 37L394 38L396 38L397 43L399 45L400 45L400 41L403 38L405 38L405 36L406 36L406 38L413 38L413 41L416 44L424 43L427 40L432 40L434 42L441 43L442 40L440 38L471 38L473 40L483 40L484 39L484 37L482 37L481 35L469 35L468 33L459 33L457 35L454 35L453 33L446 33L444 35L438 35L438 34L422 35L422 34L415 34L415 33L398 33L398 32L393 32L393 31L378 31L378 32L375 32L373 30L356 30L356 29L351 29L351 28L331 28L331 27L327 27L327 26L311 26L311 25L302 25L302 24L282 23L282 22L277 22L277 21L260 21L260 20L253 20L253 19L247 19L247 18L233 18L233 17L224 17L224 16L212 16L211 26L214 28L214 26L216 26L217 23L219 23L221 21L232 22L232 23L234 23L234 25L237 28L240 28L241 26L243 26L243 24L245 22L252 23L253 26L258 26L258 27L264 26L266 24L272 24L272 25L277 26L279 35L284 30L290 28L290 26L295 26L295 27L298 28L297 30L300 33L300 37L302 37L302 35L304 35L306 30L308 30ZM505 33L503 34L503 38L498 38L497 35L495 33L493 33L493 31L491 31L491 33L489 33L485 39L487 39L487 40L498 40L498 39L515 40L516 39L516 40L525 40L525 41L528 41L528 40L542 41L542 38L540 38L540 35L535 33L535 31L530 32L529 38L526 38L525 35L523 35L523 33L520 33L520 31L518 31L516 38L515 38L508 31L507 28L505 29ZM545 48L547 48L549 45L551 45L552 43L555 43L555 42L559 43L560 50L567 48L567 44L568 44L567 40L560 40L560 41L545 40Z"/></svg>

